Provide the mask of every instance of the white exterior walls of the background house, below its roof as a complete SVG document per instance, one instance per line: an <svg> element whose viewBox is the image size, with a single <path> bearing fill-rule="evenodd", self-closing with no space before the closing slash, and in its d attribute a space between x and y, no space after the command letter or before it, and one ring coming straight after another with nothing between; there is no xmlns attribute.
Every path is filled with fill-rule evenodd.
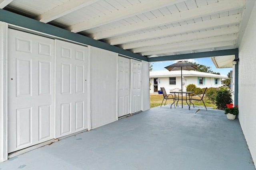
<svg viewBox="0 0 256 170"><path fill-rule="evenodd" d="M173 76L170 76L173 77ZM220 87L222 86L222 84L215 84L214 83L214 78L213 77L205 77L205 84L203 85L199 85L198 84L198 76L183 76L184 78L182 79L182 82L184 83L183 91L186 91L186 86L188 86L188 84L195 84L196 87L198 88L210 88L210 87ZM200 76L203 77L203 76ZM168 93L170 90L173 89L181 89L181 78L180 76L176 77L176 85L170 85L169 84L169 77L154 77L154 78L158 78L158 90L160 90L161 87L164 87L166 92ZM150 82L151 82L151 88L150 88L150 93L154 93L154 78L151 77L150 78Z"/></svg>

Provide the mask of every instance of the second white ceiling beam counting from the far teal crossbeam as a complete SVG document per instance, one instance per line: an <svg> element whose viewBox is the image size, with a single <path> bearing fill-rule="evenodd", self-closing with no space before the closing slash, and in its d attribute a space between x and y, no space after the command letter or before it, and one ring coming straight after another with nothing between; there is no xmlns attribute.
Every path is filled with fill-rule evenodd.
<svg viewBox="0 0 256 170"><path fill-rule="evenodd" d="M145 52L152 51L152 53L154 53L154 51L165 50L165 49L176 49L176 48L182 48L182 47L184 47L184 49L185 49L186 47L190 47L193 45L217 43L217 42L222 42L222 41L233 41L233 40L236 40L236 38L237 38L236 34L223 35L223 36L218 36L218 37L210 37L210 38L204 38L204 39L182 41L182 42L178 42L178 43L168 43L168 44L162 44L162 45L154 45L154 46L150 46L150 47L142 47L142 48L133 49L132 52L145 53Z"/></svg>

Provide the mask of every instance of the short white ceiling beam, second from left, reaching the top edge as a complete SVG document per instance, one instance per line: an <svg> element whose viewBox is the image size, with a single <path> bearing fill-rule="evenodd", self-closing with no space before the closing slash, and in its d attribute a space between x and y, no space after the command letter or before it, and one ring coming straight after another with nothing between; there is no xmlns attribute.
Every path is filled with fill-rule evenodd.
<svg viewBox="0 0 256 170"><path fill-rule="evenodd" d="M34 19L47 23L57 18L60 18L62 16L65 16L66 14L69 14L71 12L84 8L85 6L93 4L97 1L98 0L70 0L60 6L56 6L55 8L52 8L51 10L37 16Z"/></svg>

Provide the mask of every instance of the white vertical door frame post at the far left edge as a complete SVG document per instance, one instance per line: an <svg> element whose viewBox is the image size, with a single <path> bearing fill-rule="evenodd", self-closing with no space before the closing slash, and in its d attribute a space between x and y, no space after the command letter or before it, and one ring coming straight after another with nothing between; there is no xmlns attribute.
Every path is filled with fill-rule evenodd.
<svg viewBox="0 0 256 170"><path fill-rule="evenodd" d="M2 50L1 50L2 49ZM0 21L0 162L8 159L8 23Z"/></svg>

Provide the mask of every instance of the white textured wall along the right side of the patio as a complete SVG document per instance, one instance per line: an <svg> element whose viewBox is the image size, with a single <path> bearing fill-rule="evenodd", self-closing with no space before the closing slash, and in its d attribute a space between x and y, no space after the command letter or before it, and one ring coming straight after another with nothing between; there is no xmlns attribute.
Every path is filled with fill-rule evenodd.
<svg viewBox="0 0 256 170"><path fill-rule="evenodd" d="M239 121L252 159L256 162L256 4L239 47L238 106Z"/></svg>

